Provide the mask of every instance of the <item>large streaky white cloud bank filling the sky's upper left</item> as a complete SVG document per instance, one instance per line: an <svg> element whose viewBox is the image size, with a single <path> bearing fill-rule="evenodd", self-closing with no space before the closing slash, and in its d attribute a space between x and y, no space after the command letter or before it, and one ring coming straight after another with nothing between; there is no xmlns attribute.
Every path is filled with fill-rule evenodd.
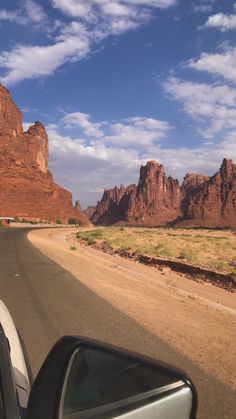
<svg viewBox="0 0 236 419"><path fill-rule="evenodd" d="M47 34L57 31L49 45L16 45L0 53L0 67L5 70L0 81L7 85L21 80L53 74L68 61L78 61L93 46L110 35L120 35L147 22L154 9L172 6L176 0L51 0L52 6L73 21L47 22ZM0 12L0 19L33 22L37 26L48 19L43 8L33 0L24 0L22 8Z"/></svg>

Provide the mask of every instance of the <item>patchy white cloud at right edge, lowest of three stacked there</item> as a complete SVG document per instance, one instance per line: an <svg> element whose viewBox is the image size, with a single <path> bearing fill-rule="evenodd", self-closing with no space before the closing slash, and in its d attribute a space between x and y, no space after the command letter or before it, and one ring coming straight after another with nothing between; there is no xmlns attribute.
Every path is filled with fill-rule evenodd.
<svg viewBox="0 0 236 419"><path fill-rule="evenodd" d="M197 121L197 130L204 138L236 128L236 89L173 76L163 86L172 99L182 103L183 111Z"/></svg>

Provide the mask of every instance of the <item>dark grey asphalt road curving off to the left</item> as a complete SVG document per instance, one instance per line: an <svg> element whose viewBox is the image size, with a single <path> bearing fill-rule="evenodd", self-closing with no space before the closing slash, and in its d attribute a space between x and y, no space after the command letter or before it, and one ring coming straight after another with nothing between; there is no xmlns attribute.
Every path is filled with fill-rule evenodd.
<svg viewBox="0 0 236 419"><path fill-rule="evenodd" d="M236 394L230 387L45 257L28 241L27 231L0 230L0 298L23 337L34 375L59 337L89 336L184 369L198 389L198 418L236 418Z"/></svg>

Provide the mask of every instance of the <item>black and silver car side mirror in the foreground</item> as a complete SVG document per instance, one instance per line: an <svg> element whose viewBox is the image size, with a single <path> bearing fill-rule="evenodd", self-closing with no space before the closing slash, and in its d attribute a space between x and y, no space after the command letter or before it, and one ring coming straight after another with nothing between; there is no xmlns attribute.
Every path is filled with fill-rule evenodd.
<svg viewBox="0 0 236 419"><path fill-rule="evenodd" d="M165 364L96 341L67 336L33 384L27 419L193 419L194 385Z"/></svg>

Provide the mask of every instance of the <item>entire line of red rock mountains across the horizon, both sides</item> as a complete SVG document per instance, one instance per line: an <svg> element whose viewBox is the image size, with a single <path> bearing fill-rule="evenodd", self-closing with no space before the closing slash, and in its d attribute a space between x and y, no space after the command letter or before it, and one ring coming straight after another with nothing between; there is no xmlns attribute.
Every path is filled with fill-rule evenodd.
<svg viewBox="0 0 236 419"><path fill-rule="evenodd" d="M186 174L182 185L156 161L141 166L138 185L105 190L96 207L79 202L48 170L48 137L35 122L26 132L10 92L0 85L0 216L81 223L236 227L236 165L224 159L213 176ZM88 217L88 218L87 218Z"/></svg>

